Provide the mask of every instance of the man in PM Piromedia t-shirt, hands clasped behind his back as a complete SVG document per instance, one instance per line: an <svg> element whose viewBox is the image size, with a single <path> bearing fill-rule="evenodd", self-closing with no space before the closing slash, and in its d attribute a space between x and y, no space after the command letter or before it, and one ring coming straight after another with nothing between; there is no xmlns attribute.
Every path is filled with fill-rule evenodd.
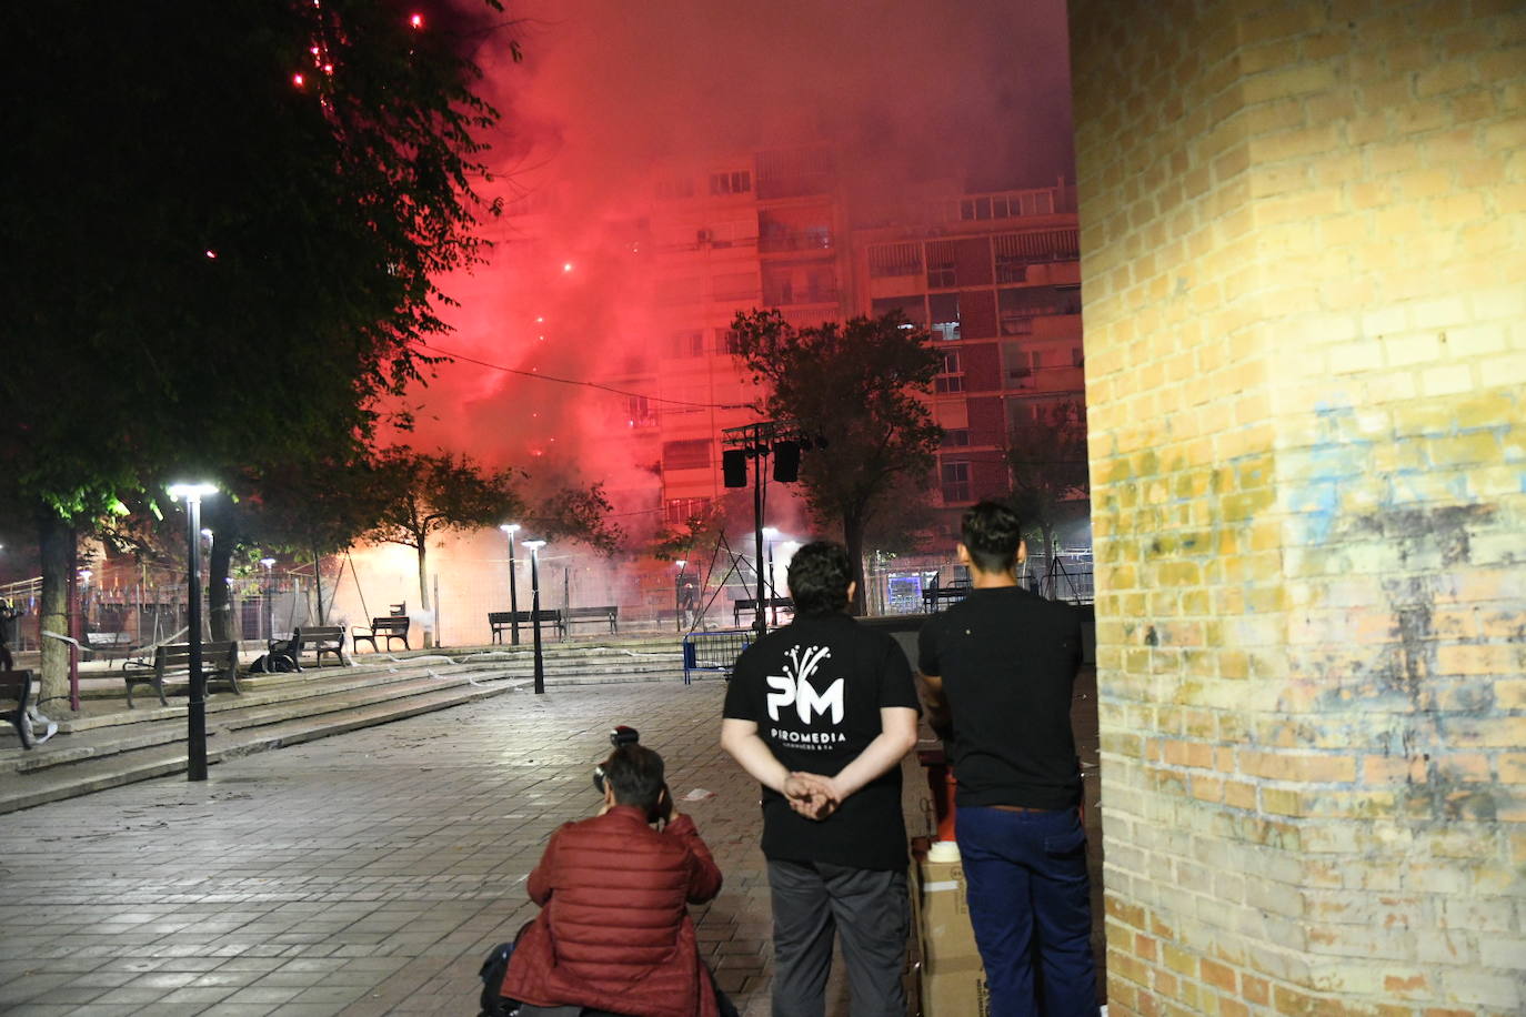
<svg viewBox="0 0 1526 1017"><path fill-rule="evenodd" d="M819 1017L841 938L855 1017L903 1017L906 825L900 759L917 691L896 642L847 616L841 544L789 566L795 621L737 660L722 747L763 784L774 904L774 1015Z"/></svg>

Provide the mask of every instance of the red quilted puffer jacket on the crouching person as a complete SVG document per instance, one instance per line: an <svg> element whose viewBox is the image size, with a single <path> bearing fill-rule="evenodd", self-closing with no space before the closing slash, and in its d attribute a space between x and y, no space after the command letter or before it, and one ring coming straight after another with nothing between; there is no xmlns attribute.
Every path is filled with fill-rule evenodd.
<svg viewBox="0 0 1526 1017"><path fill-rule="evenodd" d="M716 1017L687 904L719 892L720 869L688 816L662 833L632 805L566 823L530 874L540 915L514 948L504 996L630 1017Z"/></svg>

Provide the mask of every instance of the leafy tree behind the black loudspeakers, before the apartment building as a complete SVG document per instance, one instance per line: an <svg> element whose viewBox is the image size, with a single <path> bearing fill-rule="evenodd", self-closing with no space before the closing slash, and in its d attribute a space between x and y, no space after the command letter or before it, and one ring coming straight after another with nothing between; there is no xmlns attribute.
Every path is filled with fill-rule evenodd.
<svg viewBox="0 0 1526 1017"><path fill-rule="evenodd" d="M932 392L942 355L925 329L897 313L794 328L778 311L739 313L743 361L769 393L758 409L826 439L801 456L806 502L842 528L864 610L864 534L902 479L925 486L943 430L919 396Z"/></svg>

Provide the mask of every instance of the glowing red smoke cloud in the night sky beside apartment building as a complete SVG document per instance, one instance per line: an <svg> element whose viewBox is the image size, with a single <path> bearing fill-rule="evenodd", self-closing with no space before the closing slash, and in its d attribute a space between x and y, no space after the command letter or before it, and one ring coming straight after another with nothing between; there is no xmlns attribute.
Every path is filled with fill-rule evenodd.
<svg viewBox="0 0 1526 1017"><path fill-rule="evenodd" d="M801 17L807 8L812 15ZM487 221L481 235L494 242L487 264L438 281L458 302L446 311L455 331L438 346L507 371L441 364L406 401L417 430L395 439L468 451L491 467L534 464L531 476L552 483L604 480L612 492L641 492L639 505L617 497L617 512L632 512L620 520L632 532L655 521L636 512L662 497L661 441L697 438L711 418L661 399L710 404L742 395L714 389L699 358L674 361L664 352L685 329L703 329L711 346L729 322L726 308L653 297L674 273L710 287L713 274L737 270L705 267L705 258L729 258L725 249L673 267L674 245L693 244L699 227L749 213L755 227L755 204L722 209L708 172L749 165L765 149L827 142L841 154L839 188L853 197L903 197L908 206L972 180L998 189L1051 184L1062 172L1073 178L1062 0L525 0L514 14L542 26L520 38L523 61L496 46L511 30L475 55L487 75L482 95L504 116L482 139L493 146L497 180L479 191L511 212L516 204L530 210ZM407 17L412 29L423 20ZM674 75L674 44L725 58ZM908 66L940 73L906 75ZM1045 133L1050 120L1062 125L1058 134ZM671 168L696 186L687 241L647 227L659 221L655 195ZM671 209L662 215L671 218ZM670 367L678 371L664 374ZM638 409L624 392L652 398ZM668 422L659 428L653 416L679 412L673 419L682 433L659 438ZM783 491L771 497L783 502Z"/></svg>

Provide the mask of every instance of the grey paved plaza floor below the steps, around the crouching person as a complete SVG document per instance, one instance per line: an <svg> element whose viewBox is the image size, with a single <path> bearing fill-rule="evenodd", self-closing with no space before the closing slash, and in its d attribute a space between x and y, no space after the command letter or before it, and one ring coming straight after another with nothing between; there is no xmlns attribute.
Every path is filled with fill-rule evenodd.
<svg viewBox="0 0 1526 1017"><path fill-rule="evenodd" d="M6 816L0 1012L475 1014L482 954L534 915L525 877L629 723L725 872L694 909L717 979L766 1014L757 785L719 749L723 689L520 689Z"/></svg>

